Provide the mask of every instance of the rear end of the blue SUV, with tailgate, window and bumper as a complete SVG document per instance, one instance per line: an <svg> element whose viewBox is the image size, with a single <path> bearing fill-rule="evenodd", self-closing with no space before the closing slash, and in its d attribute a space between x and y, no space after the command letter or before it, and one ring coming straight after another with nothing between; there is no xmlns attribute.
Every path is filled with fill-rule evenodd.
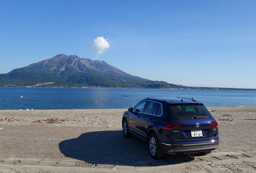
<svg viewBox="0 0 256 173"><path fill-rule="evenodd" d="M165 153L208 153L218 148L218 123L202 103L168 105L170 122L162 127Z"/></svg>

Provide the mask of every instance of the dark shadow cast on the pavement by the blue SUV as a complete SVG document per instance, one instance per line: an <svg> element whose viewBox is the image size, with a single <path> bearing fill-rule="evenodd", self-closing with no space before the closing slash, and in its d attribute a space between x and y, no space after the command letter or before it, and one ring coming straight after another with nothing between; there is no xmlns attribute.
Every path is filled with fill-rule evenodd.
<svg viewBox="0 0 256 173"><path fill-rule="evenodd" d="M126 138L121 130L83 133L60 142L59 149L66 157L94 164L160 166L194 160L190 155L177 154L156 161L150 157L146 141L135 136Z"/></svg>

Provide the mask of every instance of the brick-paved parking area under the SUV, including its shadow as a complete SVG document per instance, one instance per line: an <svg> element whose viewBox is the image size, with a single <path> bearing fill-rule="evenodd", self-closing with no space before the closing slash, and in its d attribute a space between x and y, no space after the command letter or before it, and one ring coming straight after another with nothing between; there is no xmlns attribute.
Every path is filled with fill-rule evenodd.
<svg viewBox="0 0 256 173"><path fill-rule="evenodd" d="M125 138L120 127L0 125L0 172L21 165L24 172L221 172L207 160L249 163L250 168L238 172L256 172L255 125L220 124L219 148L209 155L166 155L160 161L151 159L145 141Z"/></svg>

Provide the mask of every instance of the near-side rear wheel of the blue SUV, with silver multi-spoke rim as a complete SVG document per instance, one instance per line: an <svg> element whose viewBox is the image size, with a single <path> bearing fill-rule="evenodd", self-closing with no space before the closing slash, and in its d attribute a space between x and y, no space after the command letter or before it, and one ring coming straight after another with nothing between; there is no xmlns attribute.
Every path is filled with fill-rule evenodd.
<svg viewBox="0 0 256 173"><path fill-rule="evenodd" d="M159 147L159 141L155 133L150 134L148 138L148 149L149 154L153 159L162 159L164 157L164 153Z"/></svg>

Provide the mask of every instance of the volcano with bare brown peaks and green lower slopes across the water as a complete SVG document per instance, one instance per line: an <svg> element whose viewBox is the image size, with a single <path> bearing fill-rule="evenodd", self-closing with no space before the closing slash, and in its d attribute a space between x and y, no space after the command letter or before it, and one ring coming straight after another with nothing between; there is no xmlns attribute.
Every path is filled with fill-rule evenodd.
<svg viewBox="0 0 256 173"><path fill-rule="evenodd" d="M168 84L132 76L110 64L59 54L53 58L0 74L0 87L129 87L179 88Z"/></svg>

